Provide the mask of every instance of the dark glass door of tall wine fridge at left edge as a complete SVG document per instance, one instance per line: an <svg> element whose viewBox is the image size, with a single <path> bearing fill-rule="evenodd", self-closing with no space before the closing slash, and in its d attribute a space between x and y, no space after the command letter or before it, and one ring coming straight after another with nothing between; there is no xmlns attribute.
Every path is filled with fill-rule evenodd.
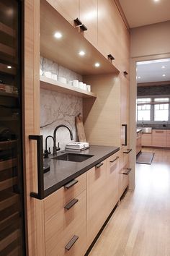
<svg viewBox="0 0 170 256"><path fill-rule="evenodd" d="M21 1L0 0L0 255L25 255Z"/></svg>

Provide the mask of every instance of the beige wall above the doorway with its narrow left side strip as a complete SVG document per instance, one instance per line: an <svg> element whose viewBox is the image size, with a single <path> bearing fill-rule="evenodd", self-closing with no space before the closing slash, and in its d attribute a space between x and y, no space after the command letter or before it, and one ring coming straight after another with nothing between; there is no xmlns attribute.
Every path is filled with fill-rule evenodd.
<svg viewBox="0 0 170 256"><path fill-rule="evenodd" d="M135 187L135 101L137 94L136 62L170 58L170 21L130 30L130 189Z"/></svg>

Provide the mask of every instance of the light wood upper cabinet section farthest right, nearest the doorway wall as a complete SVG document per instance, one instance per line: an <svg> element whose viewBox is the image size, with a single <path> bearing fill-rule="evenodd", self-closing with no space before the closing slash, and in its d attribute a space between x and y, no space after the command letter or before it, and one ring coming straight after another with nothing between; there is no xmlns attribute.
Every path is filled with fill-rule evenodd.
<svg viewBox="0 0 170 256"><path fill-rule="evenodd" d="M115 1L98 0L98 49L120 72L129 72L130 34Z"/></svg>

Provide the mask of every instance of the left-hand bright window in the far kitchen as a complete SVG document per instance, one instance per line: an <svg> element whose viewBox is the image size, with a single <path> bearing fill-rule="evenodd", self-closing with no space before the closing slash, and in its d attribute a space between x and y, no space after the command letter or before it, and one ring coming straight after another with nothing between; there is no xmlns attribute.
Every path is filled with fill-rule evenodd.
<svg viewBox="0 0 170 256"><path fill-rule="evenodd" d="M151 121L151 104L149 104L150 102L151 98L137 99L137 121Z"/></svg>

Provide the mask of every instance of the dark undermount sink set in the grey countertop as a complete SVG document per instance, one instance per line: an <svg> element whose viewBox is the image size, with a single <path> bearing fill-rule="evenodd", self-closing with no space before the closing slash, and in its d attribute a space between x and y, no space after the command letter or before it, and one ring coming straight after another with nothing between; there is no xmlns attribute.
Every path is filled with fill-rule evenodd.
<svg viewBox="0 0 170 256"><path fill-rule="evenodd" d="M55 156L56 160L71 161L71 162L83 162L94 155L83 155L77 153L64 153L63 155Z"/></svg>

